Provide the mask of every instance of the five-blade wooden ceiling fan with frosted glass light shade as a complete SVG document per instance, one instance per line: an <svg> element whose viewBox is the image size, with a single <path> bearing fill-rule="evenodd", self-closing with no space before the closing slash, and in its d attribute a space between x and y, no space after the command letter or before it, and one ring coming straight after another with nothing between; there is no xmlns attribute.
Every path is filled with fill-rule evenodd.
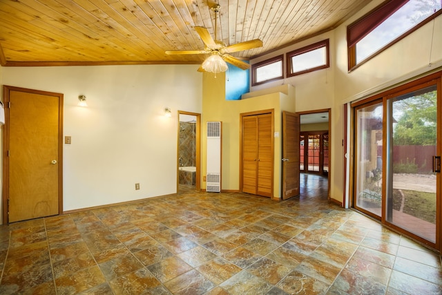
<svg viewBox="0 0 442 295"><path fill-rule="evenodd" d="M218 12L220 12L220 5L215 4L215 6L211 7L211 10L215 12L215 39L204 27L195 26L195 30L200 35L200 38L205 44L204 50L175 50L175 51L166 51L166 55L200 55L200 54L209 54L202 66L198 68L200 72L212 72L212 73L220 73L227 70L226 61L229 64L233 64L233 66L237 66L242 70L247 70L250 68L250 65L244 61L241 61L237 57L233 57L230 53L236 53L242 50L249 50L253 48L262 47L262 41L260 39L253 39L250 41L244 41L237 44L232 44L227 46L222 41L218 41L216 39L216 21L218 19Z"/></svg>

